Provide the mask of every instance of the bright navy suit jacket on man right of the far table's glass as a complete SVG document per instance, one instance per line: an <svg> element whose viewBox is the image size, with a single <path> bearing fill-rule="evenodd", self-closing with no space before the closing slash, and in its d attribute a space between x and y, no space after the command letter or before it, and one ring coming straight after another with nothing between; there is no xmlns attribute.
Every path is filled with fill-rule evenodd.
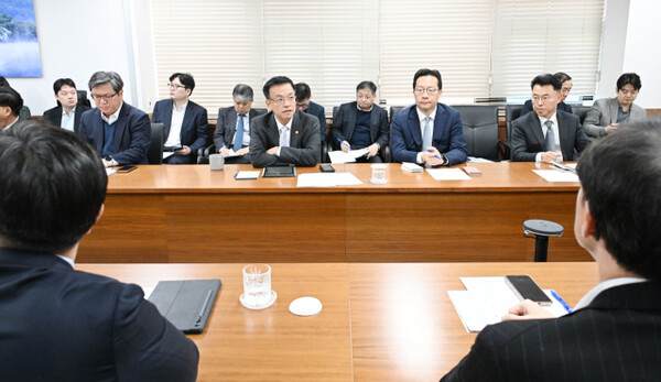
<svg viewBox="0 0 661 382"><path fill-rule="evenodd" d="M393 162L415 163L418 153L423 151L420 120L415 105L392 117L390 145ZM438 103L434 117L432 145L448 160L448 165L466 162L466 140L459 112L447 105Z"/></svg>

